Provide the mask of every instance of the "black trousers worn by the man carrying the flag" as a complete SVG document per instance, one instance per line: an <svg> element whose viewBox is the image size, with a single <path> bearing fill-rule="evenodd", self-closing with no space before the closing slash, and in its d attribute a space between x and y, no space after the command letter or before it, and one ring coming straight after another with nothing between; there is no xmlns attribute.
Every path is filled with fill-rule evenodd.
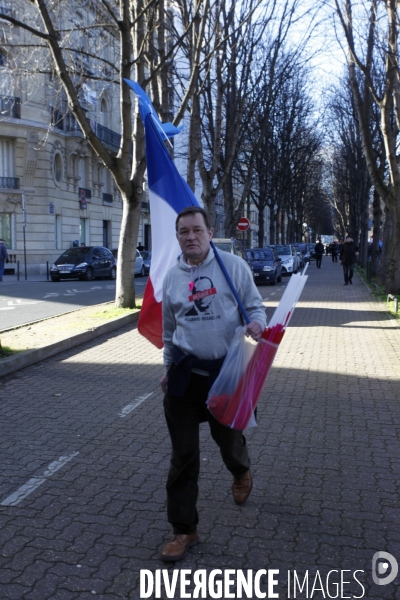
<svg viewBox="0 0 400 600"><path fill-rule="evenodd" d="M167 480L168 522L174 533L194 533L199 517L196 503L200 473L199 425L208 421L222 460L235 477L250 468L246 439L241 431L221 425L206 406L208 378L192 373L183 398L164 397L164 412L172 442Z"/></svg>

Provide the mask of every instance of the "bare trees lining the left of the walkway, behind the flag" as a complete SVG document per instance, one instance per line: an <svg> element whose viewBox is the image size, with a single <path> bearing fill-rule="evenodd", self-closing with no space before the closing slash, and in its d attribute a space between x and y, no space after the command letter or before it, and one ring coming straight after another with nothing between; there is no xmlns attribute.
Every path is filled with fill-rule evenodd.
<svg viewBox="0 0 400 600"><path fill-rule="evenodd" d="M222 194L227 235L252 197L260 215L269 206L273 239L284 219L288 235L299 239L304 207L321 187L321 142L303 62L309 32L296 44L290 35L301 10L300 0L15 0L12 14L0 10L15 28L2 40L14 76L36 76L60 106L66 101L120 191L117 305L135 303L131 274L146 169L143 124L124 78L150 92L161 120L187 125L189 185L201 189L212 219ZM85 11L89 22L78 18ZM25 32L22 42L16 28ZM119 89L117 153L101 142L83 106L91 82ZM262 218L260 225L262 243Z"/></svg>

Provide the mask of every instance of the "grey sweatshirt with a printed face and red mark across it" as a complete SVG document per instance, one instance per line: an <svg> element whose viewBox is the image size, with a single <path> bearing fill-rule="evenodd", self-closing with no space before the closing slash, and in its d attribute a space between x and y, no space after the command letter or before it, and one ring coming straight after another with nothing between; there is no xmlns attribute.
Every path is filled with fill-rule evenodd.
<svg viewBox="0 0 400 600"><path fill-rule="evenodd" d="M250 317L266 326L265 308L249 267L242 258L220 252L233 285ZM172 364L172 347L200 359L225 356L235 330L243 325L234 295L214 251L198 267L181 255L163 284L163 340L166 370Z"/></svg>

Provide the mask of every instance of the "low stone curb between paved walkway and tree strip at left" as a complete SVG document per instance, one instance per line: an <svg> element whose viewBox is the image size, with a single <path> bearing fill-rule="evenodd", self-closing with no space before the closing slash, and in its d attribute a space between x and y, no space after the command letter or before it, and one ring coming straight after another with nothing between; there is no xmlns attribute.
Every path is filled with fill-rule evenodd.
<svg viewBox="0 0 400 600"><path fill-rule="evenodd" d="M0 362L0 377L4 377L10 373L14 373L20 369L29 367L30 365L45 360L46 358L50 358L51 356L55 356L60 352L64 352L64 350L70 350L71 348L75 348L76 346L80 346L86 342L90 342L101 335L125 327L130 323L136 323L136 321L139 319L139 314L140 311L131 315L123 315L122 317L117 317L113 321L98 325L93 329L72 335L65 340L54 342L53 344L43 346L42 348L35 348L34 350L24 350L14 354L13 356L9 356L8 358L4 358Z"/></svg>

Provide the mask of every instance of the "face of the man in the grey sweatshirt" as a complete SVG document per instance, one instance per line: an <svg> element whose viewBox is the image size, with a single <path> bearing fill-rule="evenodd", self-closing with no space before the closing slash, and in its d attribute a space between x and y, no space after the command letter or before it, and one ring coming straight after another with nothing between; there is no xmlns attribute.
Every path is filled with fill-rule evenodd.
<svg viewBox="0 0 400 600"><path fill-rule="evenodd" d="M210 250L213 230L208 230L203 215L195 213L181 217L176 237L184 257L192 264L203 262Z"/></svg>

